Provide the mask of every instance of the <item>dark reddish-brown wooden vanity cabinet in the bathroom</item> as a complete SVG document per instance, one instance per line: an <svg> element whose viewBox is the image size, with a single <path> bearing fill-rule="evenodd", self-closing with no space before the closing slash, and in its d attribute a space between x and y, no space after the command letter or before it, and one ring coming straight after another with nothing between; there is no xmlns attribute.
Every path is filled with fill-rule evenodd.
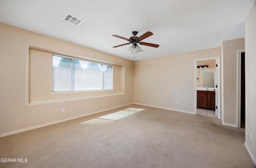
<svg viewBox="0 0 256 168"><path fill-rule="evenodd" d="M215 110L215 91L197 91L197 108Z"/></svg>

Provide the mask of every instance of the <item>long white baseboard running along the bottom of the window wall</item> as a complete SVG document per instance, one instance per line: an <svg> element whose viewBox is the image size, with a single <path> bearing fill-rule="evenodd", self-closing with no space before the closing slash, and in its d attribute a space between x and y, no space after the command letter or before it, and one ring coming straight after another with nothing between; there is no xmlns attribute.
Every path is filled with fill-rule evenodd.
<svg viewBox="0 0 256 168"><path fill-rule="evenodd" d="M130 104L133 104L133 103L130 103ZM51 122L51 123L45 123L45 124L36 125L36 126L33 126L33 127L29 127L29 128L20 129L20 130L17 130L17 131L12 131L12 132L8 132L8 133L0 134L0 137L5 137L5 136L8 136L8 135L21 133L21 132L24 132L24 131L29 131L29 130L32 130L32 129L37 129L37 128L40 128L40 127L45 127L45 126L53 125L53 124L56 124L56 123L61 123L61 122L68 121L68 120L71 120L71 119L76 119L76 118L84 117L84 116L87 116L87 115L92 115L92 114L100 113L100 112L103 112L103 111L108 111L108 110L111 110L111 109L115 109L115 108L118 108L118 107L123 107L123 106L130 105L130 104L120 105L120 106L117 106L117 107L112 107L112 108L104 109L104 110L100 110L100 111L94 111L92 113L86 113L86 114L83 114L83 115L78 115L78 116L75 116L75 117L62 119L62 120L54 121L54 122Z"/></svg>

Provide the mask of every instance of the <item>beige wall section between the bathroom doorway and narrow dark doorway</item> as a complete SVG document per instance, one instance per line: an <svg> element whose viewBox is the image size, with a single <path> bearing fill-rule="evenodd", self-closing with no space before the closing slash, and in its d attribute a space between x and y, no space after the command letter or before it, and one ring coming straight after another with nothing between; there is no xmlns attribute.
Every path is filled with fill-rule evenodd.
<svg viewBox="0 0 256 168"><path fill-rule="evenodd" d="M238 50L244 48L244 38L222 42L222 123L234 127L238 126Z"/></svg>

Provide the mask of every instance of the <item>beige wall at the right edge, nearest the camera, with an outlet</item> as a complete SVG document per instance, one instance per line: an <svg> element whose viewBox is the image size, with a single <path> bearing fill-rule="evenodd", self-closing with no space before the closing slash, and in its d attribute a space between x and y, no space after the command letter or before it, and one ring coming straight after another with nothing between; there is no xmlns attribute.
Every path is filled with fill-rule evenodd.
<svg viewBox="0 0 256 168"><path fill-rule="evenodd" d="M256 165L256 3L245 20L245 145ZM250 131L252 140L250 140Z"/></svg>

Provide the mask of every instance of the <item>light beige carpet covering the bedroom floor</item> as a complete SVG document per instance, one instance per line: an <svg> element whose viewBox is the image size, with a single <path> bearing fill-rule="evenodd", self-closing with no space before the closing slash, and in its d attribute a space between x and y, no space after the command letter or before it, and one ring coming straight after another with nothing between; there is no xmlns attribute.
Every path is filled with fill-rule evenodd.
<svg viewBox="0 0 256 168"><path fill-rule="evenodd" d="M136 104L1 137L0 157L17 159L1 168L255 168L244 129Z"/></svg>

